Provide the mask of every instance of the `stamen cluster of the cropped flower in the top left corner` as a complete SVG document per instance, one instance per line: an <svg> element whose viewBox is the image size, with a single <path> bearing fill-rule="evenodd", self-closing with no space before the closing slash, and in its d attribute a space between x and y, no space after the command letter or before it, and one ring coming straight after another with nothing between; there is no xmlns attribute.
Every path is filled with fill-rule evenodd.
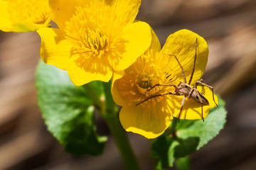
<svg viewBox="0 0 256 170"><path fill-rule="evenodd" d="M11 20L14 22L30 22L45 24L50 17L48 1L45 0L9 0L8 10Z"/></svg>

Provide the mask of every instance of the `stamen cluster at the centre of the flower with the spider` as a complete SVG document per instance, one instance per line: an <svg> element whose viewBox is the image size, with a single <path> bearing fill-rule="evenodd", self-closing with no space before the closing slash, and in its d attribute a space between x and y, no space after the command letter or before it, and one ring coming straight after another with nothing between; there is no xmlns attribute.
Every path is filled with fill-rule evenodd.
<svg viewBox="0 0 256 170"><path fill-rule="evenodd" d="M143 55L137 59L131 67L125 71L124 77L119 81L119 90L123 97L129 98L129 105L136 105L151 96L164 94L174 91L172 86L155 86L156 84L176 84L177 79L174 74L169 72L168 68L162 68L156 64L154 52L149 55ZM152 87L154 88L152 89ZM154 106L156 102L160 102L163 97L154 97L141 103L142 106Z"/></svg>

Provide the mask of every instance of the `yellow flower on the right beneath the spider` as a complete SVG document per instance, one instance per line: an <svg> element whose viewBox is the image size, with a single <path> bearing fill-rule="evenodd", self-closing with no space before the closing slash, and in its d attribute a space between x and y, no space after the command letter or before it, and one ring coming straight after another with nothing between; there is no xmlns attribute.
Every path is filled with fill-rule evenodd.
<svg viewBox="0 0 256 170"><path fill-rule="evenodd" d="M172 86L156 86L155 84L176 84L183 81L181 67L174 56L176 55L184 69L186 79L189 79L195 57L195 45L197 39L196 69L191 84L201 79L206 69L208 60L208 45L206 40L190 30L179 30L169 35L166 43L160 49L159 40L152 33L151 47L144 55L137 58L137 62L126 69L124 77L113 77L112 96L114 101L123 106L119 119L123 128L127 131L138 133L147 138L155 138L161 135L169 127L171 120L178 117L181 110L183 96L165 95L145 99L150 96L174 92ZM151 90L149 90L151 89ZM210 108L215 107L213 94L208 87L198 86L209 105L203 106L203 118L206 118ZM216 96L215 101L217 99ZM144 101L143 103L140 103ZM218 101L216 101L218 103ZM140 103L139 105L137 105ZM201 103L186 98L185 106L181 112L181 119L202 119Z"/></svg>

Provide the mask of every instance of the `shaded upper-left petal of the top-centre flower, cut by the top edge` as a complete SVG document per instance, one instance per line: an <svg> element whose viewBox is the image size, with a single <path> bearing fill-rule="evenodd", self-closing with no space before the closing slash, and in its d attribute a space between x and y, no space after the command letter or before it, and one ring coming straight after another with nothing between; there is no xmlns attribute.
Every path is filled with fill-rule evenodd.
<svg viewBox="0 0 256 170"><path fill-rule="evenodd" d="M75 7L84 7L88 3L90 0L49 0L52 20L57 23L60 29L63 29L65 28L65 21L70 21L70 18L75 14Z"/></svg>

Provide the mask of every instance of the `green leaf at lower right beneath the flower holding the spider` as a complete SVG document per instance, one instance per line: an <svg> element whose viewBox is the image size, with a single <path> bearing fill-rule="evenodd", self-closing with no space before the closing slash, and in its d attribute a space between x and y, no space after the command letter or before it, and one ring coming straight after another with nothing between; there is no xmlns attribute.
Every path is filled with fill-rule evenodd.
<svg viewBox="0 0 256 170"><path fill-rule="evenodd" d="M176 136L171 137L166 134L169 132L166 130L164 135L152 142L151 157L156 159L156 169L173 166L175 159L196 152L218 135L225 125L227 114L225 102L218 98L219 106L210 110L204 122L203 120L181 120L176 125Z"/></svg>

